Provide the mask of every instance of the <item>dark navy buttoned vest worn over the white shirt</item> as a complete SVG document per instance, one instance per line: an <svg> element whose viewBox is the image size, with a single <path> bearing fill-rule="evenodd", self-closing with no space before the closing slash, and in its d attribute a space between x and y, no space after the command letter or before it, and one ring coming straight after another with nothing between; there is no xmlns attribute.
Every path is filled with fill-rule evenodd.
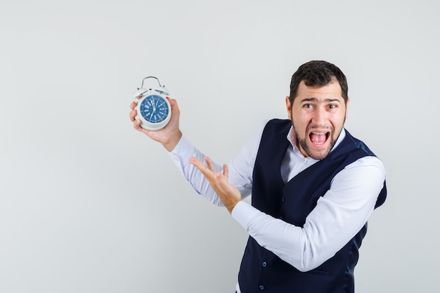
<svg viewBox="0 0 440 293"><path fill-rule="evenodd" d="M374 154L363 142L346 131L344 140L325 159L284 184L280 167L289 145L286 137L290 126L290 120L279 119L273 119L266 124L254 165L252 206L275 218L302 227L319 197L330 189L332 178L356 159ZM384 183L375 207L383 204L386 195ZM238 275L240 290L242 293L354 292L354 267L366 231L365 224L335 256L305 273L249 237Z"/></svg>

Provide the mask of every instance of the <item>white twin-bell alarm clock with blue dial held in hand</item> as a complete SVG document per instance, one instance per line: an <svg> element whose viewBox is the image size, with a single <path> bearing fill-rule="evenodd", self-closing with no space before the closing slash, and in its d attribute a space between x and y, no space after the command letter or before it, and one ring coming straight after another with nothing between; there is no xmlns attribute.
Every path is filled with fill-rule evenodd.
<svg viewBox="0 0 440 293"><path fill-rule="evenodd" d="M145 79L156 79L159 86L144 88ZM145 77L142 79L141 88L133 93L136 101L137 115L135 119L141 119L141 127L146 130L159 130L164 128L171 119L171 105L167 100L169 91L162 86L157 77ZM139 96L141 98L139 98Z"/></svg>

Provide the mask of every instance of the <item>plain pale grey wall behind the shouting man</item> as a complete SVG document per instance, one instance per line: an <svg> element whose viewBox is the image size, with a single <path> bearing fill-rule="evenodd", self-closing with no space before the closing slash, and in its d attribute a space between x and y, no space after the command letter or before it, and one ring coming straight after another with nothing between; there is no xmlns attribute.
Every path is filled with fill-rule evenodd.
<svg viewBox="0 0 440 293"><path fill-rule="evenodd" d="M292 73L349 81L387 169L356 292L439 292L438 1L0 0L0 292L233 292L247 235L132 128L154 75L228 162Z"/></svg>

